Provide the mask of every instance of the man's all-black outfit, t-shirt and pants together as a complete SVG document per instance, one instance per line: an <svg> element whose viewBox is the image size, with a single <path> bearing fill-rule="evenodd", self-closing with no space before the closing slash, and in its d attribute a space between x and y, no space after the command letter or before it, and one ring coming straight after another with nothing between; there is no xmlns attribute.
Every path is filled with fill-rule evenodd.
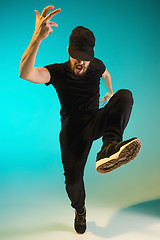
<svg viewBox="0 0 160 240"><path fill-rule="evenodd" d="M77 211L85 205L84 168L94 140L103 137L103 145L121 141L129 121L133 98L129 90L116 92L99 109L99 81L105 66L94 59L86 75L75 76L69 62L46 66L60 102L62 125L60 146L65 184L71 206Z"/></svg>

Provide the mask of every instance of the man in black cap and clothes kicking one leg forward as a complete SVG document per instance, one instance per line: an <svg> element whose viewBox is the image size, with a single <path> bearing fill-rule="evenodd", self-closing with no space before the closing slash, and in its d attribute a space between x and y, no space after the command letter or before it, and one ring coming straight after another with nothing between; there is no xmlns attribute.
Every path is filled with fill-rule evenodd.
<svg viewBox="0 0 160 240"><path fill-rule="evenodd" d="M54 6L36 12L36 25L32 40L20 64L20 77L34 83L52 84L61 103L60 145L65 184L71 206L75 209L74 227L77 233L86 230L84 168L91 145L102 137L103 146L97 154L96 169L110 172L133 160L141 142L138 138L122 141L129 121L133 98L129 90L121 89L113 95L111 76L102 61L94 58L95 37L89 29L78 26L69 38L69 61L34 67L35 58L43 39L53 32L51 18L61 9L47 12ZM108 87L99 109L99 83L103 77Z"/></svg>

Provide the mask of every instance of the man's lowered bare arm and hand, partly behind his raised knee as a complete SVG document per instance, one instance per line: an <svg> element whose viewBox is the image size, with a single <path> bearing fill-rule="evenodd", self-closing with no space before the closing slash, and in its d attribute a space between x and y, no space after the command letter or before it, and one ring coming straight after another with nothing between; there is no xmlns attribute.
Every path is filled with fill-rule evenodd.
<svg viewBox="0 0 160 240"><path fill-rule="evenodd" d="M108 89L108 92L106 93L106 95L104 97L101 97L102 100L100 101L100 103L102 103L102 106L104 106L109 101L109 99L113 96L113 89L112 89L111 75L109 74L107 69L102 74L102 77L103 77L103 81Z"/></svg>

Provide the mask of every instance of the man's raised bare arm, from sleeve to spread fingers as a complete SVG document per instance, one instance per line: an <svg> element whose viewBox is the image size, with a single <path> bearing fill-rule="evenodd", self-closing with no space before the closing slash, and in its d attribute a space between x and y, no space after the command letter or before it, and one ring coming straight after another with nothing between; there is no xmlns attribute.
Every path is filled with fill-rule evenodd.
<svg viewBox="0 0 160 240"><path fill-rule="evenodd" d="M36 55L39 46L43 39L47 38L49 34L52 34L52 26L58 27L55 22L50 22L51 18L61 12L61 9L56 9L47 15L47 12L53 9L54 6L48 6L43 9L42 14L35 10L36 13L36 25L31 42L25 50L19 69L19 76L25 80L34 83L46 83L50 80L50 73L46 68L34 67Z"/></svg>

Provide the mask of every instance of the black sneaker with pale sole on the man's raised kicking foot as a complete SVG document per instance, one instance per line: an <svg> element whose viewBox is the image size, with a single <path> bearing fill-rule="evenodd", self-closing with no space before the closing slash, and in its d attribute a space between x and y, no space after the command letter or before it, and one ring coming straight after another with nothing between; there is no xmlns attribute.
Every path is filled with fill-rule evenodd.
<svg viewBox="0 0 160 240"><path fill-rule="evenodd" d="M139 153L141 141L131 138L124 142L112 142L97 154L96 170L100 173L110 172L133 160Z"/></svg>

